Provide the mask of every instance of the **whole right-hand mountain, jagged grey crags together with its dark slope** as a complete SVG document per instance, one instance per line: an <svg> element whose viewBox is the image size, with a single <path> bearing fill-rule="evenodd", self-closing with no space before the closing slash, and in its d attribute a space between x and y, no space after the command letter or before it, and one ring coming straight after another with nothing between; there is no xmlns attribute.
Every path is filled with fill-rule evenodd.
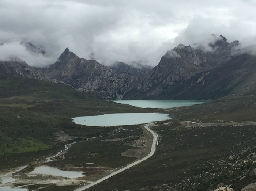
<svg viewBox="0 0 256 191"><path fill-rule="evenodd" d="M245 70L244 67L247 66L243 63L254 63L255 57L247 54L232 56L238 45L238 41L229 43L223 36L216 37L209 44L210 51L203 46L194 48L180 44L167 51L148 75L129 88L125 99L202 100L241 93L244 91L241 84L249 81L241 81L239 78L241 75L251 76L247 72L254 69L254 64L250 64L251 71ZM233 65L241 68L236 70ZM253 90L253 87L250 89Z"/></svg>

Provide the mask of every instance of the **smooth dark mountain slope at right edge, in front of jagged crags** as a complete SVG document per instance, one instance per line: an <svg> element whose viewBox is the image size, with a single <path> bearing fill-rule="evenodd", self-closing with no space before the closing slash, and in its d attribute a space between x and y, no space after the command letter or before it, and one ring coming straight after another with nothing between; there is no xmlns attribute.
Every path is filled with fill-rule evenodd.
<svg viewBox="0 0 256 191"><path fill-rule="evenodd" d="M175 81L157 99L214 100L228 95L250 96L255 92L256 57L241 54L218 68Z"/></svg>

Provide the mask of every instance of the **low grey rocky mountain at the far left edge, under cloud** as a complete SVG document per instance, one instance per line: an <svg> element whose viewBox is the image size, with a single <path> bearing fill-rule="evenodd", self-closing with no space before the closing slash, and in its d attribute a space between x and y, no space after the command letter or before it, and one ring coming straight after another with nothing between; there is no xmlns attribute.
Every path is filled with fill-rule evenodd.
<svg viewBox="0 0 256 191"><path fill-rule="evenodd" d="M0 77L19 76L39 80L49 80L41 72L38 72L18 57L9 61L0 61Z"/></svg>

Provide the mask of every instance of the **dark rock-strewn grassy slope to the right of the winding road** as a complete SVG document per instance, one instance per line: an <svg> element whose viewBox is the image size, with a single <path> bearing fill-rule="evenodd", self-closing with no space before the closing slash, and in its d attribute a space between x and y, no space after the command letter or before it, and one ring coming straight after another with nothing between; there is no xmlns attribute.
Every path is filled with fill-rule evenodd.
<svg viewBox="0 0 256 191"><path fill-rule="evenodd" d="M227 96L166 112L175 119L153 127L159 135L155 154L90 191L206 191L219 183L240 191L255 182L250 172L256 168L256 96Z"/></svg>

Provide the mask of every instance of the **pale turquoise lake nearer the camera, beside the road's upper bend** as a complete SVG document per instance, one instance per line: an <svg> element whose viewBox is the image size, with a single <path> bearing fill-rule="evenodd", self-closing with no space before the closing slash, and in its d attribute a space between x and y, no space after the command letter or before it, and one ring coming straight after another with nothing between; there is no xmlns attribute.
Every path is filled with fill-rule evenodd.
<svg viewBox="0 0 256 191"><path fill-rule="evenodd" d="M119 126L119 125L136 125L151 123L155 121L164 121L171 119L168 114L159 113L124 113L124 114L105 114L86 117L75 117L73 122L87 126Z"/></svg>

